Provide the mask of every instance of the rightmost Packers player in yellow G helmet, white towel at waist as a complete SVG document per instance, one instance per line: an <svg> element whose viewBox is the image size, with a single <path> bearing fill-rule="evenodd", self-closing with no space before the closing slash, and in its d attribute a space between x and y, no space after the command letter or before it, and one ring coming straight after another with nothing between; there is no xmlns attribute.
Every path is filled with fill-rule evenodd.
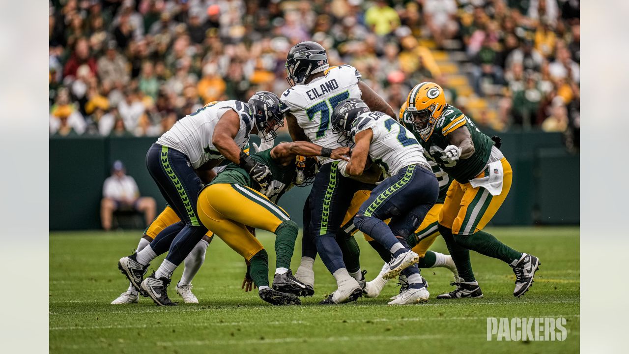
<svg viewBox="0 0 629 354"><path fill-rule="evenodd" d="M443 171L453 178L439 214L438 230L457 265L460 282L437 299L482 297L469 250L507 263L516 275L513 295L525 294L540 264L483 231L511 188L513 171L500 152L499 138L489 138L458 108L448 105L435 83L416 85L406 99L403 123ZM498 142L498 144L496 144Z"/></svg>

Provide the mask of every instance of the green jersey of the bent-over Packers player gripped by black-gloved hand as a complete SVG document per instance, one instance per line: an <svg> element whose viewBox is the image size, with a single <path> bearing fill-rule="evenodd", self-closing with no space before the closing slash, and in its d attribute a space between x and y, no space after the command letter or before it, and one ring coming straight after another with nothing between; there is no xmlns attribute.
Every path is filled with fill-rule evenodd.
<svg viewBox="0 0 629 354"><path fill-rule="evenodd" d="M282 166L281 164L276 163L276 161L271 157L271 150L272 149L268 149L250 155L255 161L268 166L271 170L271 174L273 174L273 180L264 191L262 191L260 185L253 180L251 176L249 176L245 169L235 163L228 164L227 167L209 184L234 183L237 185L248 186L263 194L267 190L272 190L273 193L271 195L267 195L267 197L269 197L271 202L277 203L277 200L282 197L284 192L286 192L288 187L291 185L296 174L297 166L296 163L291 163L287 166Z"/></svg>

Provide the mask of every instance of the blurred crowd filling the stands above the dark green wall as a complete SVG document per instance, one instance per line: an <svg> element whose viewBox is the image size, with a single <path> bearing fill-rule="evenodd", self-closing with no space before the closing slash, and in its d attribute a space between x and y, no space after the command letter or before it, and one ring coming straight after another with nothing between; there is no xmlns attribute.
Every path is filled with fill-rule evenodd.
<svg viewBox="0 0 629 354"><path fill-rule="evenodd" d="M394 109L435 81L482 127L579 137L579 0L53 0L50 134L157 136L216 100L288 88L314 40Z"/></svg>

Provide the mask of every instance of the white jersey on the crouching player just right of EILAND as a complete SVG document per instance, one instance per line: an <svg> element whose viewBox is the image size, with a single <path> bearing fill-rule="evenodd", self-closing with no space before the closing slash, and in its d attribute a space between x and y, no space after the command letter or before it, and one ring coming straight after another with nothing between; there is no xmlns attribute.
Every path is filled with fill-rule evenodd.
<svg viewBox="0 0 629 354"><path fill-rule="evenodd" d="M397 120L382 112L365 112L352 122L352 136L371 129L374 136L369 146L369 156L394 176L400 169L412 164L421 164L432 171L424 157L424 149L413 134Z"/></svg>

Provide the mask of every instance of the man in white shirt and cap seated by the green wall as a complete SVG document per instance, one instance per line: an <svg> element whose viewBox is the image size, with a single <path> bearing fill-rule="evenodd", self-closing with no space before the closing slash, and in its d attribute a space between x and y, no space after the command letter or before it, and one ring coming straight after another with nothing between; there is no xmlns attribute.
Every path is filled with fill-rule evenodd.
<svg viewBox="0 0 629 354"><path fill-rule="evenodd" d="M120 160L116 160L111 169L111 176L103 184L103 200L101 200L103 229L111 230L113 214L116 211L143 213L148 225L155 219L155 207L155 199L140 197L140 190L135 180L126 175L125 166Z"/></svg>

